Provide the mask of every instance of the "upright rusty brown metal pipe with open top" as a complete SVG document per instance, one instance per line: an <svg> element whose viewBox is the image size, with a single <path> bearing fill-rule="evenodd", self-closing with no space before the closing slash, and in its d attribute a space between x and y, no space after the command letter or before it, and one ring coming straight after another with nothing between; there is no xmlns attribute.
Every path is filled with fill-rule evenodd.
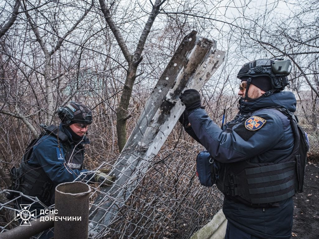
<svg viewBox="0 0 319 239"><path fill-rule="evenodd" d="M81 182L56 186L54 238L87 239L91 187Z"/></svg>

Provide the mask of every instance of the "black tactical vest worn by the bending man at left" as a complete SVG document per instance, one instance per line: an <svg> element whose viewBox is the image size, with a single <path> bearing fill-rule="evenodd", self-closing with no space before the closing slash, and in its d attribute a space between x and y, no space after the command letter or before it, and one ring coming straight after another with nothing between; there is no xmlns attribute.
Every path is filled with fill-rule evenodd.
<svg viewBox="0 0 319 239"><path fill-rule="evenodd" d="M43 137L51 137L49 135L54 135L58 138L59 142L62 144L64 152L64 158L70 169L82 170L83 160L84 160L84 147L82 144L79 144L76 148L71 147L68 137L63 132L59 131L58 128L54 125L46 128L46 132L33 140L26 149L26 153L23 156L23 160L20 163L20 178L19 178L19 188L17 191L22 192L25 195L38 197L41 202L45 204L53 204L51 201L55 193L56 185L51 181L47 176L44 170L41 167L34 167L29 165L27 161L34 157L33 155L33 146L39 143ZM69 159L71 158L70 162Z"/></svg>

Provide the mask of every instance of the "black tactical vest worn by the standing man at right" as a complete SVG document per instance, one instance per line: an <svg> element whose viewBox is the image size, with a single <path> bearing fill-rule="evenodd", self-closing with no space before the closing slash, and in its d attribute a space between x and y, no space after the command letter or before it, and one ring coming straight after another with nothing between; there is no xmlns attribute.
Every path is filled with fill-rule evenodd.
<svg viewBox="0 0 319 239"><path fill-rule="evenodd" d="M287 110L280 109L273 110L280 110L288 116ZM244 118L248 119L250 115L246 115ZM296 191L302 192L300 180L303 184L303 174L300 178L297 177L297 171L303 170L304 172L305 167L305 160L300 162L298 154L300 132L296 132L296 123L293 122L291 116L288 118L290 118L293 129L294 147L292 154L284 159L283 163L251 163L246 160L220 164L220 178L216 185L226 198L240 201L249 206L267 207L275 202L291 198Z"/></svg>

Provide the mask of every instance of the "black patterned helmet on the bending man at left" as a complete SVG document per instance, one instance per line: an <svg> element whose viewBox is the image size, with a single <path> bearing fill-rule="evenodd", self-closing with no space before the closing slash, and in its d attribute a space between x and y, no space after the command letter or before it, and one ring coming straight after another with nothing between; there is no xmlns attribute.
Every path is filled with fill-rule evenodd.
<svg viewBox="0 0 319 239"><path fill-rule="evenodd" d="M65 125L72 123L92 124L91 110L80 102L71 101L65 106L58 108L58 116Z"/></svg>

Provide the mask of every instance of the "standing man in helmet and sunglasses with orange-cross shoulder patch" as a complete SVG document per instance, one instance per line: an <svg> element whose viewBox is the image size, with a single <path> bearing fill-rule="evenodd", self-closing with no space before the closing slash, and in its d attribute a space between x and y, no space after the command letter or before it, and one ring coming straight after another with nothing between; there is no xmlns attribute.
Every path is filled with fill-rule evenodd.
<svg viewBox="0 0 319 239"><path fill-rule="evenodd" d="M283 91L290 71L290 61L282 59L242 66L239 112L222 129L202 109L196 90L180 96L186 107L180 122L220 163L216 185L224 194L225 239L291 237L294 139L289 118L276 108L296 110L293 93Z"/></svg>

